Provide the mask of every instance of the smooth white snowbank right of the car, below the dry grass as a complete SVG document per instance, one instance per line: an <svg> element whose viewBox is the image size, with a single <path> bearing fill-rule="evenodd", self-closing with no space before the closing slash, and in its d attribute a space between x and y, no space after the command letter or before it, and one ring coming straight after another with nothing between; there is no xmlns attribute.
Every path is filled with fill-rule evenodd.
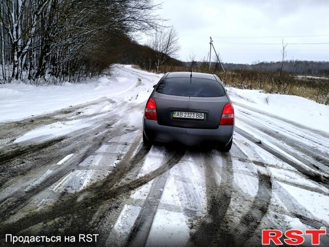
<svg viewBox="0 0 329 247"><path fill-rule="evenodd" d="M258 90L227 87L234 102L257 108L310 128L329 133L329 106L294 95L266 94Z"/></svg>

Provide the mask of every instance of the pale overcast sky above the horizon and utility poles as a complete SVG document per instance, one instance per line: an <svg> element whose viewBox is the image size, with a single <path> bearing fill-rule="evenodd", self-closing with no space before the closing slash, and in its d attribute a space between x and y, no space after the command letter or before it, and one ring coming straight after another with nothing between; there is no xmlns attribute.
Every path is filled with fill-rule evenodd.
<svg viewBox="0 0 329 247"><path fill-rule="evenodd" d="M157 12L169 19L166 25L174 25L179 33L178 58L182 61L191 52L197 60L206 58L210 36L223 62L279 61L282 45L264 43L282 43L282 38L220 37L283 36L316 36L283 38L288 43L287 59L329 61L328 0L155 0L155 3L162 3Z"/></svg>

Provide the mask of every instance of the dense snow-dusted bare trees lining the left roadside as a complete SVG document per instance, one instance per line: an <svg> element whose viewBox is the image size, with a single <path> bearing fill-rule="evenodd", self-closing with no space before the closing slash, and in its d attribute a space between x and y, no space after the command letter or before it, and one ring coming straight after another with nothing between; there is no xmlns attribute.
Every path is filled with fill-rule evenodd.
<svg viewBox="0 0 329 247"><path fill-rule="evenodd" d="M122 41L156 29L151 0L1 0L0 81L79 81L122 56Z"/></svg>

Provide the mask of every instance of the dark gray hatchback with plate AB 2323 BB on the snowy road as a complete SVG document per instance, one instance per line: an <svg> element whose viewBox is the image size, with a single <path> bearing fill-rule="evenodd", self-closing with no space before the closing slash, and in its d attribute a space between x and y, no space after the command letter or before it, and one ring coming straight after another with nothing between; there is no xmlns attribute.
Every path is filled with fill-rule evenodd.
<svg viewBox="0 0 329 247"><path fill-rule="evenodd" d="M154 86L143 117L143 142L179 142L187 146L232 146L233 105L216 75L190 72L165 74Z"/></svg>

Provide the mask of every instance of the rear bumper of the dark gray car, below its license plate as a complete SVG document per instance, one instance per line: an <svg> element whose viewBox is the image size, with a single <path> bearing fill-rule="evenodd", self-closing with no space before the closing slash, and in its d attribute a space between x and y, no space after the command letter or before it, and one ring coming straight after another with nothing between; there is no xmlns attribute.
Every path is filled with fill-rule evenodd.
<svg viewBox="0 0 329 247"><path fill-rule="evenodd" d="M149 140L155 142L179 142L187 146L196 146L200 143L227 145L232 139L234 126L219 126L217 129L188 129L163 126L155 120L143 118L143 131Z"/></svg>

